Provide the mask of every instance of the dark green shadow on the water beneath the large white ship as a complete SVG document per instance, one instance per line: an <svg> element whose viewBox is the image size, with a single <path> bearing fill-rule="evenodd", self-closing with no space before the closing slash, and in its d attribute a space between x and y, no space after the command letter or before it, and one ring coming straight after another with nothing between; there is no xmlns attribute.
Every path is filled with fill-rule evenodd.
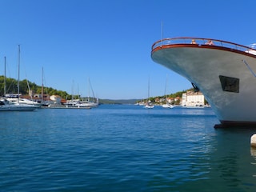
<svg viewBox="0 0 256 192"><path fill-rule="evenodd" d="M210 154L210 181L219 183L219 191L254 191L256 185L256 149L250 147L254 128L217 129L216 143ZM209 183L209 185L212 185ZM215 188L216 189L216 186Z"/></svg>

